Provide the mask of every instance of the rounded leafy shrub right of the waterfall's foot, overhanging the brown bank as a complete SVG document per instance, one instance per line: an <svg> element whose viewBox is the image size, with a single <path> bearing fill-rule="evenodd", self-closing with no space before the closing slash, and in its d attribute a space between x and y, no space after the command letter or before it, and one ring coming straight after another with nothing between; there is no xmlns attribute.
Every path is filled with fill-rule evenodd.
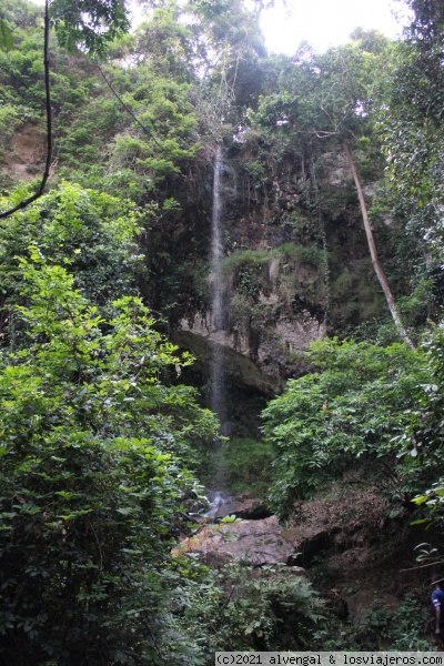
<svg viewBox="0 0 444 666"><path fill-rule="evenodd" d="M295 500L365 463L373 466L371 483L377 468L386 490L398 498L412 494L418 468L395 466L396 435L427 379L422 351L325 340L309 357L320 372L291 380L263 412L264 438L275 452L274 508L285 516Z"/></svg>

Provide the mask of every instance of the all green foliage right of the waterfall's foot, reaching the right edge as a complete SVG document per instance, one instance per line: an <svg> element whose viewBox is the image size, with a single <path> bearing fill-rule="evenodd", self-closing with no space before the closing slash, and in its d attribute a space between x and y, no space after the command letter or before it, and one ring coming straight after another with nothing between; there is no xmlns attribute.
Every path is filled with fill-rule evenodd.
<svg viewBox="0 0 444 666"><path fill-rule="evenodd" d="M317 372L290 381L263 412L275 451L275 509L287 516L296 500L349 477L379 487L394 507L426 505L441 522L443 349L442 324L417 350L313 344Z"/></svg>

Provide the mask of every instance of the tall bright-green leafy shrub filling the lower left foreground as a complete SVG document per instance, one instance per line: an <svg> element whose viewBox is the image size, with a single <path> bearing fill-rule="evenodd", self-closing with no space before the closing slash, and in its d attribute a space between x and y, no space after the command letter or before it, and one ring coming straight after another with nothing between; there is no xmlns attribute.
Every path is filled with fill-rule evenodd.
<svg viewBox="0 0 444 666"><path fill-rule="evenodd" d="M107 321L63 268L21 261L28 344L0 356L0 655L8 664L157 664L185 463L213 417L186 386L190 362L140 300Z"/></svg>

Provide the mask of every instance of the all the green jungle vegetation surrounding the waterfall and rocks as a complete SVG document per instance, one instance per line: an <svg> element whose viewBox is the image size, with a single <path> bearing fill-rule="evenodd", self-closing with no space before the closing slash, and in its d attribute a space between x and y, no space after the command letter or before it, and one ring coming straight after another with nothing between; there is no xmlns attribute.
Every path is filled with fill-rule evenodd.
<svg viewBox="0 0 444 666"><path fill-rule="evenodd" d="M171 335L209 307L221 144L226 325L254 351L276 314L263 295L295 307L297 264L316 272L299 305L327 333L262 412L273 511L356 474L442 524L441 3L410 0L398 41L356 28L293 56L266 51L270 2L139 4L132 28L121 0L0 0L0 660L373 649L377 623L389 647L427 649L412 599L344 635L280 567L254 579L171 555L206 506L219 436ZM266 228L266 250L240 220ZM249 447L225 443L233 471Z"/></svg>

